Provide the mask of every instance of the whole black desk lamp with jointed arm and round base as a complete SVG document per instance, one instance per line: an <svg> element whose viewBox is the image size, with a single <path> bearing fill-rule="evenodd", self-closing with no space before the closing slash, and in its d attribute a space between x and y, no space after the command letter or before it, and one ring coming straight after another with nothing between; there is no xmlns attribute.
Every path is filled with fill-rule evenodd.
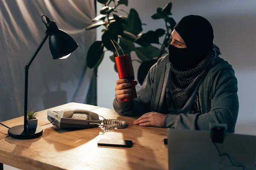
<svg viewBox="0 0 256 170"><path fill-rule="evenodd" d="M47 23L44 22L43 17L45 17ZM27 127L27 104L29 66L35 59L41 47L44 45L44 42L49 37L49 47L53 59L67 58L78 47L78 44L75 42L75 40L73 40L69 34L60 30L55 21L50 21L46 15L43 15L41 19L47 28L46 35L25 66L24 125L14 126L8 130L8 135L15 139L34 139L43 134L43 129L40 126L37 126L36 129L29 129Z"/></svg>

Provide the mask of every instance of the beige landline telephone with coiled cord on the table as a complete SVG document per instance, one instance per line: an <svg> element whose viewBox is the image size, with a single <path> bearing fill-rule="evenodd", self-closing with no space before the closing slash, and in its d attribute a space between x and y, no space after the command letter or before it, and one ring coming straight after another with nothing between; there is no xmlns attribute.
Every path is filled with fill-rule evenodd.
<svg viewBox="0 0 256 170"><path fill-rule="evenodd" d="M101 116L102 117L102 116ZM99 115L82 109L47 111L47 119L61 128L92 128L100 126L103 130L124 128L126 122L118 119L99 119Z"/></svg>

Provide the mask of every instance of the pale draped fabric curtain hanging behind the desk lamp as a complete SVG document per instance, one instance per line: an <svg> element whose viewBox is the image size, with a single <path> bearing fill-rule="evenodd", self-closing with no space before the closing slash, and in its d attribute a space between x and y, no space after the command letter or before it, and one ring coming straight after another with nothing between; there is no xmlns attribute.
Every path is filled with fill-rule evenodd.
<svg viewBox="0 0 256 170"><path fill-rule="evenodd" d="M96 77L86 55L96 30L94 0L0 0L0 122L23 115L24 66L46 31L46 14L79 44L67 59L52 59L47 40L29 68L28 109L68 102L96 105Z"/></svg>

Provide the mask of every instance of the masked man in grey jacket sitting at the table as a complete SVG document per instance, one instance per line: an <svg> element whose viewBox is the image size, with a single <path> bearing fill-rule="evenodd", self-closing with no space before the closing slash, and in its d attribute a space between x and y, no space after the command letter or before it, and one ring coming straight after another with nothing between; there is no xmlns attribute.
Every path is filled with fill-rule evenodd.
<svg viewBox="0 0 256 170"><path fill-rule="evenodd" d="M234 132L239 110L237 79L232 66L219 57L213 29L198 15L183 17L172 31L169 54L148 72L137 99L126 79L116 81L113 107L124 116L140 116L135 125L209 130L225 123ZM137 82L136 82L137 83Z"/></svg>

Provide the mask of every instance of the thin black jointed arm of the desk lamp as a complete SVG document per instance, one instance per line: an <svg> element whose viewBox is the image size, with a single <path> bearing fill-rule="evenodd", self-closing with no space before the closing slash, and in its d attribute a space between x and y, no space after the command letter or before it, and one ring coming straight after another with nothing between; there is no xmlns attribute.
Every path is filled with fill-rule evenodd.
<svg viewBox="0 0 256 170"><path fill-rule="evenodd" d="M24 131L27 130L27 108L28 108L28 76L29 76L29 66L35 59L36 55L40 51L41 47L44 45L44 42L49 37L48 31L46 35L44 36L44 39L39 44L38 48L35 50L35 53L32 55L32 57L29 59L29 62L25 66L25 94L24 94Z"/></svg>

